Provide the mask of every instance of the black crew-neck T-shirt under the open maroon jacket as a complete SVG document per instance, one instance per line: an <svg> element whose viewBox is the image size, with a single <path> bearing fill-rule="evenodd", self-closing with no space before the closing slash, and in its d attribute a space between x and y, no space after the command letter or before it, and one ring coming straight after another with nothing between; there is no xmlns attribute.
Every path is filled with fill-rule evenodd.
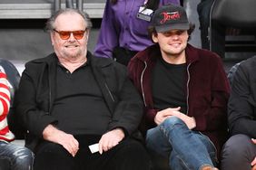
<svg viewBox="0 0 256 170"><path fill-rule="evenodd" d="M186 114L186 64L170 64L158 59L153 68L153 103L155 109L182 107Z"/></svg>

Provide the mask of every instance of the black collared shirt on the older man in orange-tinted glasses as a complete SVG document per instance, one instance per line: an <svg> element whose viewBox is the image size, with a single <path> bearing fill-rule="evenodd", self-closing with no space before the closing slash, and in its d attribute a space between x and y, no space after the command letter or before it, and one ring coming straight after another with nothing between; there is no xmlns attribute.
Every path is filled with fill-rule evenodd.
<svg viewBox="0 0 256 170"><path fill-rule="evenodd" d="M94 79L90 62L73 73L59 65L56 78L53 108L53 115L58 119L56 126L74 135L105 133L111 113Z"/></svg>

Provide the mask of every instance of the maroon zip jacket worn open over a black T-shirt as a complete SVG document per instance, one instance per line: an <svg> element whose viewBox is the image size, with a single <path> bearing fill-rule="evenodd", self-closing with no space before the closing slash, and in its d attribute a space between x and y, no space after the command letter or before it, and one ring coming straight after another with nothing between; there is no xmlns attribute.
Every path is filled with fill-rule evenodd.
<svg viewBox="0 0 256 170"><path fill-rule="evenodd" d="M187 115L195 118L193 130L211 138L218 156L227 137L227 101L229 81L221 58L215 53L197 49L188 44L187 63ZM155 127L153 119L158 110L153 107L151 73L157 57L161 57L158 44L137 53L128 65L129 76L143 95L145 105L144 130ZM161 75L159 75L161 76ZM164 88L164 85L162 85Z"/></svg>

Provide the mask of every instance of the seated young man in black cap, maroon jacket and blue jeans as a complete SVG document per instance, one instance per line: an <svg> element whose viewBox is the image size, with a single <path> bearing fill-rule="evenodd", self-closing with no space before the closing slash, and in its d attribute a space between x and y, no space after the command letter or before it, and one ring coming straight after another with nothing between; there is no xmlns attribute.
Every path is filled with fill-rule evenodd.
<svg viewBox="0 0 256 170"><path fill-rule="evenodd" d="M229 82L221 59L188 44L193 26L182 6L153 14L155 44L129 63L145 105L146 146L171 169L216 169L226 138Z"/></svg>

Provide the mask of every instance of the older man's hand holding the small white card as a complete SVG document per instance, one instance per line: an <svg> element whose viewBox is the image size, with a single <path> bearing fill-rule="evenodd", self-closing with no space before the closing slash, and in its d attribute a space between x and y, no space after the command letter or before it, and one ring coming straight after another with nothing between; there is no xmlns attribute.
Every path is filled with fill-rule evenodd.
<svg viewBox="0 0 256 170"><path fill-rule="evenodd" d="M103 151L106 152L113 146L116 146L123 140L123 137L124 133L122 128L115 128L112 131L105 133L99 141L99 153L103 154Z"/></svg>

